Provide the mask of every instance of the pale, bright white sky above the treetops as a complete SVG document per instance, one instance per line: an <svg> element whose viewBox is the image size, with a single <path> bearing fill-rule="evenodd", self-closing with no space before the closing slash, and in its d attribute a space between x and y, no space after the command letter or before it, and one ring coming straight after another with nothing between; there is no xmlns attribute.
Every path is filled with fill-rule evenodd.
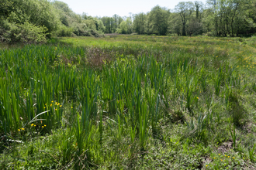
<svg viewBox="0 0 256 170"><path fill-rule="evenodd" d="M119 16L130 16L130 12L137 14L140 12L150 12L151 8L156 5L174 9L178 2L187 2L186 0L59 0L67 3L69 8L77 14L83 12L91 16L112 16L117 14ZM206 3L206 0L199 0Z"/></svg>

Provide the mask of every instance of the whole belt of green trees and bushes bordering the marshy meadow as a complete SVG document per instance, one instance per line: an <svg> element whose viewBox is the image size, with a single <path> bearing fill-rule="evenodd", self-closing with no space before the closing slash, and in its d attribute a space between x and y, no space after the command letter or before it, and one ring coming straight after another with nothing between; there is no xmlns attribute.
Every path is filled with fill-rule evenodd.
<svg viewBox="0 0 256 170"><path fill-rule="evenodd" d="M61 1L2 0L1 42L46 42L53 36L102 36L104 33L165 36L251 36L256 32L256 0L179 2L121 17L78 15Z"/></svg>

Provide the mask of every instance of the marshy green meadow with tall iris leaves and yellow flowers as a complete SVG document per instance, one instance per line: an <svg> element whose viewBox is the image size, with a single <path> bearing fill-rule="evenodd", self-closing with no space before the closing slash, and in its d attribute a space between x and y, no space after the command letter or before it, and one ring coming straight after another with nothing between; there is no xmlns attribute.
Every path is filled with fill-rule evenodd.
<svg viewBox="0 0 256 170"><path fill-rule="evenodd" d="M256 39L0 45L1 169L254 169Z"/></svg>

